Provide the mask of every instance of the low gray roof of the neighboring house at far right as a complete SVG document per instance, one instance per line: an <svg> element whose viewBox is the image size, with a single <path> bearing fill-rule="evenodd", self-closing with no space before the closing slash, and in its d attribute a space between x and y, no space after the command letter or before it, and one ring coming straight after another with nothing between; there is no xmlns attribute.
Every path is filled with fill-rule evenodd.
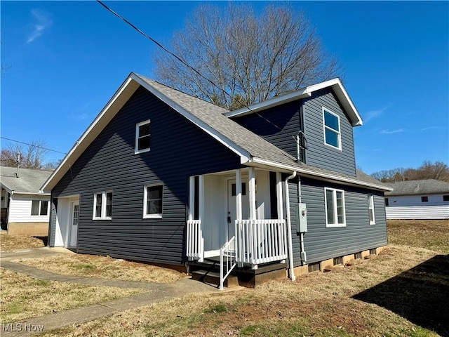
<svg viewBox="0 0 449 337"><path fill-rule="evenodd" d="M449 183L435 179L406 180L384 185L393 188L393 191L385 193L385 196L449 193Z"/></svg>

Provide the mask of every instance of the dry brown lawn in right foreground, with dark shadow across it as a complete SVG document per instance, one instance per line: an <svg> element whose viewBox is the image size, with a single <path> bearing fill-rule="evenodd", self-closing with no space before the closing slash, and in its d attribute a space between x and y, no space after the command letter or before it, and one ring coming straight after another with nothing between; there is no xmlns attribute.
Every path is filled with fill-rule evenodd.
<svg viewBox="0 0 449 337"><path fill-rule="evenodd" d="M395 228L390 241L413 231L413 225L406 228ZM424 247L391 244L379 256L297 282L185 296L45 336L449 336L441 228L429 223L427 235L435 239Z"/></svg>

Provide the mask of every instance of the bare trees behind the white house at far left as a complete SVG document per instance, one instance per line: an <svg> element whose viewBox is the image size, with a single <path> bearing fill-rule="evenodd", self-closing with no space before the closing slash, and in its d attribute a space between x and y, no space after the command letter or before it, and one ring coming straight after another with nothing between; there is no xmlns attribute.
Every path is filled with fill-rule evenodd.
<svg viewBox="0 0 449 337"><path fill-rule="evenodd" d="M44 149L43 140L33 140L29 145L10 144L0 153L2 166L17 166L23 169L43 169L48 150Z"/></svg>

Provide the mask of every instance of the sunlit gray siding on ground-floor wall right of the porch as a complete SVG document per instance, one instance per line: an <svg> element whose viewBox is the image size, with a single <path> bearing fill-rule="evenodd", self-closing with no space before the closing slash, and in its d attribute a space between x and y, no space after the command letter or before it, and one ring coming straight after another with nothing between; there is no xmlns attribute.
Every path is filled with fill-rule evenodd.
<svg viewBox="0 0 449 337"><path fill-rule="evenodd" d="M326 227L324 187L344 190L346 227ZM290 214L295 224L294 204L297 202L297 183L289 183ZM335 185L302 178L302 202L307 204L308 232L304 235L307 263L328 260L387 244L387 221L382 192ZM375 225L370 225L368 196L374 195ZM295 266L300 265L300 236L292 226Z"/></svg>

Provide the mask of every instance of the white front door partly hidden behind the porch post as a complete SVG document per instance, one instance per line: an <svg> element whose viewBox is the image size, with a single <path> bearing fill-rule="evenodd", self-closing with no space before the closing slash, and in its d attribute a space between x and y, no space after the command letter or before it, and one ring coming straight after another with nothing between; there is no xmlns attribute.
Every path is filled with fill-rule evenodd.
<svg viewBox="0 0 449 337"><path fill-rule="evenodd" d="M241 217L248 219L250 217L249 209L249 185L248 179L241 179ZM229 241L236 234L235 220L236 220L236 180L230 179L227 181L227 231L226 242Z"/></svg>

